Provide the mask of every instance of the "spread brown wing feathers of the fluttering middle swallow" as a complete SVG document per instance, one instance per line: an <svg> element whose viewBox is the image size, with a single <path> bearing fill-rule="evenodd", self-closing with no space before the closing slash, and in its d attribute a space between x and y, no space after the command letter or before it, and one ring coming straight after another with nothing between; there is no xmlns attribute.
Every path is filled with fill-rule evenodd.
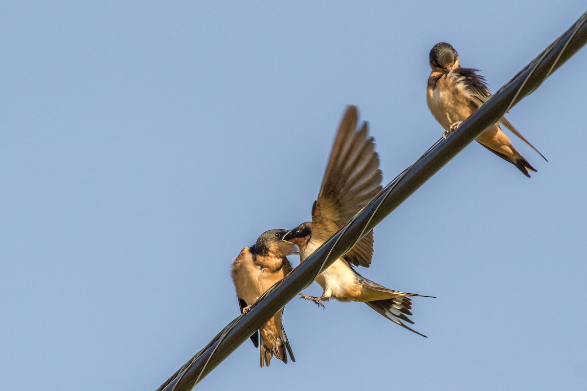
<svg viewBox="0 0 587 391"><path fill-rule="evenodd" d="M367 134L367 123L357 131L357 109L349 106L312 207L312 237L330 239L381 191L381 180L379 158L373 137ZM365 267L369 267L372 257L373 231L345 255L350 263Z"/></svg>

